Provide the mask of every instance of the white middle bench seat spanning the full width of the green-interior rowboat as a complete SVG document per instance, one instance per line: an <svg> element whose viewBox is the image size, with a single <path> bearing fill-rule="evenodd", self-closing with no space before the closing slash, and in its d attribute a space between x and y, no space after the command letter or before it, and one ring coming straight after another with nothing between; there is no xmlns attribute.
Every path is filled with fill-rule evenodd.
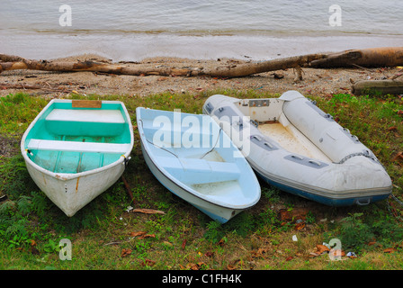
<svg viewBox="0 0 403 288"><path fill-rule="evenodd" d="M71 152L96 152L96 153L121 153L130 150L130 143L97 143L97 142L76 142L60 140L31 139L27 146L32 150L54 150Z"/></svg>

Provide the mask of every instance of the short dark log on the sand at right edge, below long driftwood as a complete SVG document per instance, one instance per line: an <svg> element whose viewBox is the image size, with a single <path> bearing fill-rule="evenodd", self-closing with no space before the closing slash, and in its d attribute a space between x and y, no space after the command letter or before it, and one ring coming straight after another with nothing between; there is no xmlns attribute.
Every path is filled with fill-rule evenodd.
<svg viewBox="0 0 403 288"><path fill-rule="evenodd" d="M384 95L384 94L403 94L403 81L397 80L363 80L352 85L353 94L363 95Z"/></svg>

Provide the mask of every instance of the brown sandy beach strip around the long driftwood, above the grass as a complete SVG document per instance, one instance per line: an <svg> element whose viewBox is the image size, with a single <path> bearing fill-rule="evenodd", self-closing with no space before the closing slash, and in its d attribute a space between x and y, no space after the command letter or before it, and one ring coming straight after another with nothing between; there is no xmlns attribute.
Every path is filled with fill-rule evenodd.
<svg viewBox="0 0 403 288"><path fill-rule="evenodd" d="M85 54L77 57L55 60L102 60L97 55ZM220 58L214 60L195 60L188 58L146 58L141 62L122 65L167 66L167 67L209 67L234 64L242 61ZM298 90L301 94L326 96L329 94L349 93L350 79L384 79L394 76L397 67L387 68L304 68L303 80L294 82L293 69L267 72L254 76L237 78L212 78L204 76L119 76L93 72L58 73L33 70L12 70L0 74L0 95L23 91L29 94L46 94L63 97L72 92L79 94L128 94L147 96L164 92L200 93L217 89L258 90L272 94L282 94L288 90Z"/></svg>

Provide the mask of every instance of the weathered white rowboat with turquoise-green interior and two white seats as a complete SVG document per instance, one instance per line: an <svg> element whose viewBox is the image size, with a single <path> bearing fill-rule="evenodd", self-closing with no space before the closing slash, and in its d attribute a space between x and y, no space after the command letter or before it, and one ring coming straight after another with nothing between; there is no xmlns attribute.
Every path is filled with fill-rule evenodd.
<svg viewBox="0 0 403 288"><path fill-rule="evenodd" d="M51 100L21 141L33 181L69 217L121 177L132 148L118 101Z"/></svg>

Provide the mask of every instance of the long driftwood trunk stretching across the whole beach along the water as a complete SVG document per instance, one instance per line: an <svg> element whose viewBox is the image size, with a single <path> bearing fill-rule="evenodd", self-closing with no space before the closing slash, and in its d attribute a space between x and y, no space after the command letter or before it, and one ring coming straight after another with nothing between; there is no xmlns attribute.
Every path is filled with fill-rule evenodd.
<svg viewBox="0 0 403 288"><path fill-rule="evenodd" d="M300 67L390 67L403 65L403 47L354 49L338 53L308 54L261 62L230 64L218 67L139 67L97 61L52 62L31 60L0 54L0 73L6 70L31 69L42 71L91 71L131 76L214 76L241 77L258 73L294 68L297 78L302 78Z"/></svg>

